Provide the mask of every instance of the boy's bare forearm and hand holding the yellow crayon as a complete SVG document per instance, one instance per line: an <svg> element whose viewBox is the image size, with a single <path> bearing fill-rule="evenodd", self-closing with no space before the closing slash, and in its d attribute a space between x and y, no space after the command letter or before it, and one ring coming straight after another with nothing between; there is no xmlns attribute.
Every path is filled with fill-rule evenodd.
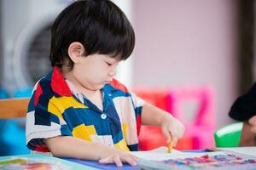
<svg viewBox="0 0 256 170"><path fill-rule="evenodd" d="M184 126L170 113L163 111L154 105L147 102L143 105L142 123L144 125L156 125L162 127L162 132L166 136L167 143L173 140L173 145L177 144L177 139L180 139L184 133Z"/></svg>

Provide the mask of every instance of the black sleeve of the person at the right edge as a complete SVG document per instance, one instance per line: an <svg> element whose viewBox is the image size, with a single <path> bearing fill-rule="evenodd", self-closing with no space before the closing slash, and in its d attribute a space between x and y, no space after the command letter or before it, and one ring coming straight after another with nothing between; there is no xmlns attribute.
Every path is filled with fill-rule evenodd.
<svg viewBox="0 0 256 170"><path fill-rule="evenodd" d="M241 95L231 106L229 116L237 121L246 121L256 115L256 83L247 94Z"/></svg>

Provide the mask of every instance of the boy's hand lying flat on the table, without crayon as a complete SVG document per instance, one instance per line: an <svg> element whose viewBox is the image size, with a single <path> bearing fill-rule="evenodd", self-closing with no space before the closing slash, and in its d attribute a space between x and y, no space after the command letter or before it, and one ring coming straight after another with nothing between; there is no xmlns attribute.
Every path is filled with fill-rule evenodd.
<svg viewBox="0 0 256 170"><path fill-rule="evenodd" d="M122 167L123 166L122 162L129 163L131 166L136 166L137 157L123 150L106 147L102 150L102 154L100 156L99 162L115 163L117 167Z"/></svg>

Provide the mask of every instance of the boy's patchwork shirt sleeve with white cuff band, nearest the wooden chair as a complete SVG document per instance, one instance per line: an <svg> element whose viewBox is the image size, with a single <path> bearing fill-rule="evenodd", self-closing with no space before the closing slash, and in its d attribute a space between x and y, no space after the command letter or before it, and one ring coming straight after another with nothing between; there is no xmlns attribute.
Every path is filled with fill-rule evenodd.
<svg viewBox="0 0 256 170"><path fill-rule="evenodd" d="M48 152L44 139L72 134L59 116L59 110L50 103L53 95L48 82L38 82L34 89L26 114L26 146L30 150Z"/></svg>

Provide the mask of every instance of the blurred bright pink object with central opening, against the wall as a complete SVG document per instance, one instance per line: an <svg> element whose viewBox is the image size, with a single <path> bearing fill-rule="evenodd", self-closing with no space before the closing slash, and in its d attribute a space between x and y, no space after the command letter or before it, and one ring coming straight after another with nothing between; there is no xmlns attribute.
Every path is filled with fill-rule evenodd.
<svg viewBox="0 0 256 170"><path fill-rule="evenodd" d="M216 121L212 88L171 88L169 102L171 105L167 111L184 123L184 136L192 138L192 149L214 146L213 132L216 129ZM188 115L183 112L183 105L188 102L198 104L193 119L189 121Z"/></svg>

